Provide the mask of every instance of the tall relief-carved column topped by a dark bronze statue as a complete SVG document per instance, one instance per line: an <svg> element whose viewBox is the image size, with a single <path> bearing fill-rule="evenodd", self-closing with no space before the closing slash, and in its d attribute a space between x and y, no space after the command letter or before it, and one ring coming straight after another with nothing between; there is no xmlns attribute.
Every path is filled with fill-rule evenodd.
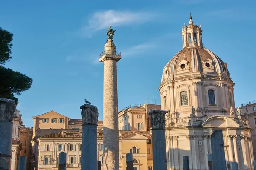
<svg viewBox="0 0 256 170"><path fill-rule="evenodd" d="M99 61L104 63L104 89L103 89L103 145L104 170L119 170L118 147L118 103L117 103L117 75L116 62L121 59L121 52L116 52L113 43L114 32L109 26L108 40L104 46L105 51L100 55Z"/></svg>

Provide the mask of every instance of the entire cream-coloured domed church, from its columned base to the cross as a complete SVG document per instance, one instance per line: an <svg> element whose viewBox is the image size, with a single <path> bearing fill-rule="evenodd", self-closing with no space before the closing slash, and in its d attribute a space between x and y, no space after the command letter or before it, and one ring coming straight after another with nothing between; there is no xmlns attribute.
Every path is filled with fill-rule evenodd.
<svg viewBox="0 0 256 170"><path fill-rule="evenodd" d="M166 114L166 151L169 170L208 170L210 135L222 130L227 169L237 162L239 170L253 169L251 128L246 115L235 111L234 83L227 63L204 48L202 29L182 28L183 49L163 69L159 87L161 108ZM238 114L237 114L238 113Z"/></svg>

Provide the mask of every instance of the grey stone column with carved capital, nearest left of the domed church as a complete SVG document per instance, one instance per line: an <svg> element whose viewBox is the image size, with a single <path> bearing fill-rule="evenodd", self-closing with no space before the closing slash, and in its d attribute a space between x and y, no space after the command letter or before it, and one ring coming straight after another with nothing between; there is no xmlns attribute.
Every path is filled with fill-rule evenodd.
<svg viewBox="0 0 256 170"><path fill-rule="evenodd" d="M165 114L168 111L152 110L152 144L153 144L153 168L154 170L167 170L166 141L165 141Z"/></svg>

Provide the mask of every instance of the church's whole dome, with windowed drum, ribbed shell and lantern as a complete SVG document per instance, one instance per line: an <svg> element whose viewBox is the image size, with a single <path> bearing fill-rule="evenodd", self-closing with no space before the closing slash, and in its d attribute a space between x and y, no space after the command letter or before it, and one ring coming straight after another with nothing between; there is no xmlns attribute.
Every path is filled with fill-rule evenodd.
<svg viewBox="0 0 256 170"><path fill-rule="evenodd" d="M224 63L209 49L204 48L202 29L194 25L182 27L182 50L163 68L161 84L161 108L174 117L195 115L229 115L235 107L234 83ZM204 114L204 113L203 113Z"/></svg>

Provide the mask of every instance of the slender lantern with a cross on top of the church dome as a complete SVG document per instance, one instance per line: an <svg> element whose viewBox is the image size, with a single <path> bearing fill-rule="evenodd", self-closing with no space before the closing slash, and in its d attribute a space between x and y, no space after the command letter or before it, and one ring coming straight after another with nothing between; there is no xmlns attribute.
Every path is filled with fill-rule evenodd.
<svg viewBox="0 0 256 170"><path fill-rule="evenodd" d="M203 41L202 41L202 29L201 25L194 25L192 21L191 12L189 12L189 25L184 26L184 29L182 28L181 35L182 35L182 49L186 47L195 47L200 46L203 47Z"/></svg>

